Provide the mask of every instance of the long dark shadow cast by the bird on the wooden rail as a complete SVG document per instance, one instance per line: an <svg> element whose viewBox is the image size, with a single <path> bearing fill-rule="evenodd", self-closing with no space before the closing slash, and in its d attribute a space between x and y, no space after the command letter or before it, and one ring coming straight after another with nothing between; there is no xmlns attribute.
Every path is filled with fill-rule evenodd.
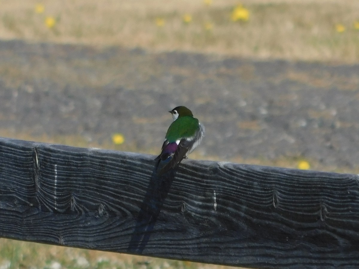
<svg viewBox="0 0 359 269"><path fill-rule="evenodd" d="M155 166L136 218L135 229L127 248L129 253L143 254L176 174L176 170L170 170L158 175L157 168Z"/></svg>

